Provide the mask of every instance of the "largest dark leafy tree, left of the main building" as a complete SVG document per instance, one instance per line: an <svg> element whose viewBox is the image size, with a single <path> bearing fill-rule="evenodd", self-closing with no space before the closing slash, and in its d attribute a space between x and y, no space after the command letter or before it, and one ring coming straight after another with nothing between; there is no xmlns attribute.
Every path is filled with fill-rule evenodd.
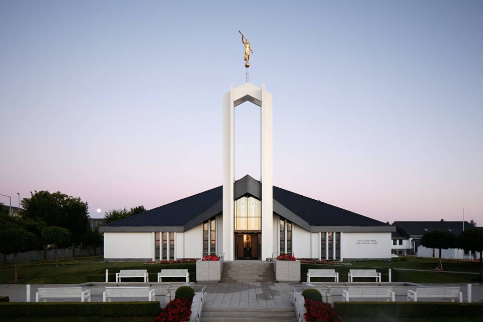
<svg viewBox="0 0 483 322"><path fill-rule="evenodd" d="M88 203L59 191L35 191L30 198L22 200L23 216L32 220L42 220L47 226L67 228L71 234L72 255L75 246L82 243L89 231Z"/></svg>

